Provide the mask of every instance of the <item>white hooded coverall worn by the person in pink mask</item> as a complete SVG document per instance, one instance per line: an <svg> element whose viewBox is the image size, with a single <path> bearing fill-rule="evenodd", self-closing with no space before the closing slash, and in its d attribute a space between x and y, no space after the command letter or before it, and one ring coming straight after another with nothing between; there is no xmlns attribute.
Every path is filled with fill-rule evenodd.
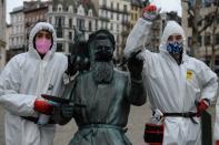
<svg viewBox="0 0 219 145"><path fill-rule="evenodd" d="M33 38L40 30L52 33L53 45L43 59L33 48ZM0 104L6 113L7 145L52 145L54 125L39 126L20 116L38 117L34 100L41 94L60 95L62 76L68 65L64 54L56 52L57 35L52 25L39 22L30 32L29 51L12 58L0 75Z"/></svg>

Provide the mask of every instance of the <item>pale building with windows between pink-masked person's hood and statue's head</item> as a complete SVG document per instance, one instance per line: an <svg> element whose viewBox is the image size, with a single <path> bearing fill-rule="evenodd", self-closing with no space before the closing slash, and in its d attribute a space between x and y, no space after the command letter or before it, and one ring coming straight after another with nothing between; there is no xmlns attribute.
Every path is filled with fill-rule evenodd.
<svg viewBox="0 0 219 145"><path fill-rule="evenodd" d="M57 31L58 51L67 54L71 51L71 44L74 43L74 27L84 33L86 39L97 30L97 17L93 9L87 8L84 3L73 3L72 0L62 2L53 0L49 4L47 21L50 22Z"/></svg>

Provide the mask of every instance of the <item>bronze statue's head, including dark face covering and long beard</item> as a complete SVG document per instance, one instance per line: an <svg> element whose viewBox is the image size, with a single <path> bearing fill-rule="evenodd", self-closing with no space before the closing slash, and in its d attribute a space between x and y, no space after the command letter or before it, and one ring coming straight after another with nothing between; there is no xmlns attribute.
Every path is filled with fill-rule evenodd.
<svg viewBox="0 0 219 145"><path fill-rule="evenodd" d="M109 83L112 80L115 44L115 37L108 30L98 30L89 37L90 64L97 83Z"/></svg>

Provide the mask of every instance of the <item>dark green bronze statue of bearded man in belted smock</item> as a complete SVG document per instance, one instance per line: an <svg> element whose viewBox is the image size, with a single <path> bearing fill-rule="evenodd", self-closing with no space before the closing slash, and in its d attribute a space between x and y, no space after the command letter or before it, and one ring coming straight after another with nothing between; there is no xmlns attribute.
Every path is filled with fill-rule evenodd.
<svg viewBox="0 0 219 145"><path fill-rule="evenodd" d="M141 77L115 69L115 38L109 31L92 33L88 49L90 70L68 85L62 97L71 103L56 108L56 121L63 125L76 120L78 132L69 145L131 145L125 127L130 105L146 102Z"/></svg>

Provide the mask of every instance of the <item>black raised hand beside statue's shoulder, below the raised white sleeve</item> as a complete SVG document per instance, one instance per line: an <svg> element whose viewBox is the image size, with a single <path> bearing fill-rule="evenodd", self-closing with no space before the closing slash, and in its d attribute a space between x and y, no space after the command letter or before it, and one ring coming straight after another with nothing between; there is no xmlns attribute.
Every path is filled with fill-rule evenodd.
<svg viewBox="0 0 219 145"><path fill-rule="evenodd" d="M136 56L131 58L130 61L128 62L128 69L131 74L131 79L133 80L141 80L141 72L143 69L143 61L138 60Z"/></svg>

